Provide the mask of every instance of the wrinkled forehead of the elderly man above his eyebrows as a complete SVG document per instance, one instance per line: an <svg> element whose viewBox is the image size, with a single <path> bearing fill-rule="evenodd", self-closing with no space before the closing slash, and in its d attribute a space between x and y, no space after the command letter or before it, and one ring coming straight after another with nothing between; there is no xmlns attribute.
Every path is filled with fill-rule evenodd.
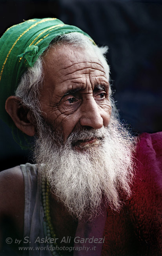
<svg viewBox="0 0 162 256"><path fill-rule="evenodd" d="M98 72L105 75L102 61L93 48L76 48L72 45L51 47L44 56L43 69L46 78L54 75L68 78L76 74L97 76Z"/></svg>

